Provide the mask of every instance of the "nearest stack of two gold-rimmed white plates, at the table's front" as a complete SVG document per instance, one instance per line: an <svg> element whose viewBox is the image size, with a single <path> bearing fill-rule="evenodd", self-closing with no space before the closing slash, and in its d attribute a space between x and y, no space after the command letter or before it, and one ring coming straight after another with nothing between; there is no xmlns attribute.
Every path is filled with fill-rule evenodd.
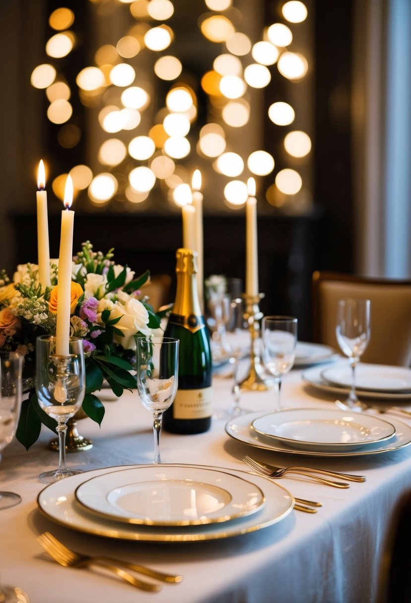
<svg viewBox="0 0 411 603"><path fill-rule="evenodd" d="M108 467L47 486L49 519L123 540L193 542L246 534L284 519L290 493L249 473L199 465Z"/></svg>

